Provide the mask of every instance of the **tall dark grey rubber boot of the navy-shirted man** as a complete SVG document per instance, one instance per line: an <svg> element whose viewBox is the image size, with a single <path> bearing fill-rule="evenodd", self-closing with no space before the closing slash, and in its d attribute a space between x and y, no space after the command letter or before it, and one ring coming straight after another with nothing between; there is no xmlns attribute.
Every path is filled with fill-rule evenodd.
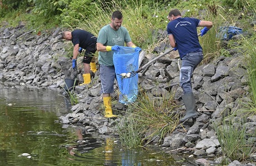
<svg viewBox="0 0 256 166"><path fill-rule="evenodd" d="M180 119L180 122L184 122L186 119L189 118L195 118L198 116L198 113L196 112L195 109L195 97L193 93L186 93L181 96L183 103L186 108L186 115L184 118Z"/></svg>

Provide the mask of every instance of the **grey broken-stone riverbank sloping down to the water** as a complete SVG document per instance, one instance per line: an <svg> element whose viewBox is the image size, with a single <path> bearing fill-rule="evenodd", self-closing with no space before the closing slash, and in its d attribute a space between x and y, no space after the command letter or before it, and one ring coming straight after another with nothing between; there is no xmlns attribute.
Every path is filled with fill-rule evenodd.
<svg viewBox="0 0 256 166"><path fill-rule="evenodd" d="M38 32L37 29L28 31L21 22L19 26L9 28L8 23L0 28L0 80L14 86L36 86L40 88L61 88L65 85L65 78L74 78L71 61L65 49L66 42L61 39L61 29L51 29ZM159 31L159 34L165 34ZM234 36L233 40L239 40ZM142 65L159 56L169 48L168 42L155 48L156 54L146 54ZM213 122L223 127L225 115L243 108L243 102L249 100L247 70L243 61L243 54L227 47L231 57L219 57L209 64L195 69L193 76L193 90L196 97L200 116L195 120L189 119L173 133L165 137L162 147L179 149L190 152L198 157L195 162L199 165L220 163L221 148L214 131ZM171 52L152 63L140 73L139 85L150 93L152 99L163 96L169 91L175 92L175 99L181 101L182 89L179 87L179 66L181 61L177 52ZM78 58L81 62L82 56ZM82 63L78 63L78 80L82 82ZM157 82L157 84L156 84ZM72 113L60 117L63 124L80 124L87 133L97 132L100 137L106 138L115 135L114 125L117 119L104 118L101 84L99 71L95 73L90 86L77 86L75 93L79 103L71 107ZM118 89L117 83L115 89ZM116 94L112 94L114 98ZM116 103L113 106L115 113L125 110L126 106ZM178 113L184 115L184 107ZM233 125L239 122L242 114L236 114ZM248 115L246 122L247 133L256 130L256 116ZM254 139L250 137L248 139ZM152 140L154 143L154 140ZM168 150L167 150L168 151ZM206 157L205 157L206 156ZM204 158L214 157L214 161ZM256 160L256 155L252 156ZM255 163L240 164L238 161L231 165L255 165ZM229 165L230 165L229 164Z"/></svg>

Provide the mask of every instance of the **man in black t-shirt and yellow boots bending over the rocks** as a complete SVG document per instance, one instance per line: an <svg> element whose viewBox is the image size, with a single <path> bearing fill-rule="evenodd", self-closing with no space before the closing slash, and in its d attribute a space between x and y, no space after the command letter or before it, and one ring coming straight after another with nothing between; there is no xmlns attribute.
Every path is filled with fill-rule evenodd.
<svg viewBox="0 0 256 166"><path fill-rule="evenodd" d="M90 32L75 29L74 31L64 31L62 33L62 38L67 41L72 41L73 56L72 56L72 68L76 68L76 59L78 52L82 52L82 49L85 49L85 56L83 56L83 68L85 73L83 74L83 83L80 85L86 85L91 82L90 69L93 73L97 71L95 58L93 57L96 52L96 43L97 37L95 37ZM91 67L90 67L91 66Z"/></svg>

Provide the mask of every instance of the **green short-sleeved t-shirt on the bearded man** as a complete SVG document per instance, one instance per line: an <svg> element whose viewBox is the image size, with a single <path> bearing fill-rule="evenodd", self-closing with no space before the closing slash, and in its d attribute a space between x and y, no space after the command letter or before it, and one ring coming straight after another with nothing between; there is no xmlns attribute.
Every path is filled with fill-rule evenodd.
<svg viewBox="0 0 256 166"><path fill-rule="evenodd" d="M131 42L131 37L127 29L121 26L115 31L110 27L110 24L100 29L97 38L97 43L101 43L104 46L124 46L125 42ZM114 66L113 53L114 51L99 52L99 63L104 64L105 66Z"/></svg>

